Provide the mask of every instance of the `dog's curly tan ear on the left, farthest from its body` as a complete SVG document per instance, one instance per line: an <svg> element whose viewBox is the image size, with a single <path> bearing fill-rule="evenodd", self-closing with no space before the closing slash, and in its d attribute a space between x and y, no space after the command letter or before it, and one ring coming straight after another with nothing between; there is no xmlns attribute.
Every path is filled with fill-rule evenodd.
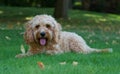
<svg viewBox="0 0 120 74"><path fill-rule="evenodd" d="M26 29L26 31L24 33L24 39L27 44L30 44L30 43L34 42L34 38L33 38L32 27L29 22L26 23L25 29Z"/></svg>

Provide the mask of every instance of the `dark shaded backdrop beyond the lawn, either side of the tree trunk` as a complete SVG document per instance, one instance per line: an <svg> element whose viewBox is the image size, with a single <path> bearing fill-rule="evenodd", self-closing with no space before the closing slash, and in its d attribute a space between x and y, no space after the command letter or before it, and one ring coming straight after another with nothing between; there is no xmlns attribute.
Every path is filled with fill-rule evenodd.
<svg viewBox="0 0 120 74"><path fill-rule="evenodd" d="M55 7L56 1L57 0L0 0L0 6ZM120 14L120 0L69 0L69 8Z"/></svg>

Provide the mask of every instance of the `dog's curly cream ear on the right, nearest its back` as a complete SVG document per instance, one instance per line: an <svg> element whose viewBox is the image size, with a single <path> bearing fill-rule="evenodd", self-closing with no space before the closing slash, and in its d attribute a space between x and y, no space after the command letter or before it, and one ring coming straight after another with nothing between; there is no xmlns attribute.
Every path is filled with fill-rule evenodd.
<svg viewBox="0 0 120 74"><path fill-rule="evenodd" d="M61 25L59 23L56 22L55 27L54 27L54 36L53 36L53 43L57 44L60 38L60 32L61 32L62 28Z"/></svg>

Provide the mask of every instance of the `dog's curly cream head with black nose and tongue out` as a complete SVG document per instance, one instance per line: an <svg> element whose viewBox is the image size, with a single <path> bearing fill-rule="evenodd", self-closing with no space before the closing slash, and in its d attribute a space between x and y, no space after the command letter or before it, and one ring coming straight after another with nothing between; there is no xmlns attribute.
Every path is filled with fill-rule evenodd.
<svg viewBox="0 0 120 74"><path fill-rule="evenodd" d="M37 43L45 46L57 43L61 25L49 15L37 15L28 21L24 38L27 44Z"/></svg>

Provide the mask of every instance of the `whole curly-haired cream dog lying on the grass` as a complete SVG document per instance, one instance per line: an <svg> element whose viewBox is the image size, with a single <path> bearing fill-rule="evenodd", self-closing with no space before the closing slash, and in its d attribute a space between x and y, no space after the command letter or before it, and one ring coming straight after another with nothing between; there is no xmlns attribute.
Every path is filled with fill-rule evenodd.
<svg viewBox="0 0 120 74"><path fill-rule="evenodd" d="M24 38L29 45L26 54L16 57L29 56L45 52L58 54L64 52L91 53L111 52L112 49L94 49L89 47L84 39L76 33L61 31L61 25L49 15L37 15L27 23Z"/></svg>

